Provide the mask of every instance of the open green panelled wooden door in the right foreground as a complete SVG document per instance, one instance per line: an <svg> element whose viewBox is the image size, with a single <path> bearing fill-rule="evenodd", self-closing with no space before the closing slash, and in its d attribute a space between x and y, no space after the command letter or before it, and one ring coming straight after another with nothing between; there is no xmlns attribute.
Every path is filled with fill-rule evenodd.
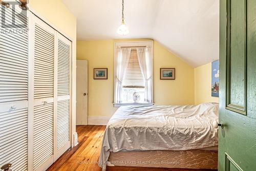
<svg viewBox="0 0 256 171"><path fill-rule="evenodd" d="M256 170L256 0L220 0L219 170Z"/></svg>

